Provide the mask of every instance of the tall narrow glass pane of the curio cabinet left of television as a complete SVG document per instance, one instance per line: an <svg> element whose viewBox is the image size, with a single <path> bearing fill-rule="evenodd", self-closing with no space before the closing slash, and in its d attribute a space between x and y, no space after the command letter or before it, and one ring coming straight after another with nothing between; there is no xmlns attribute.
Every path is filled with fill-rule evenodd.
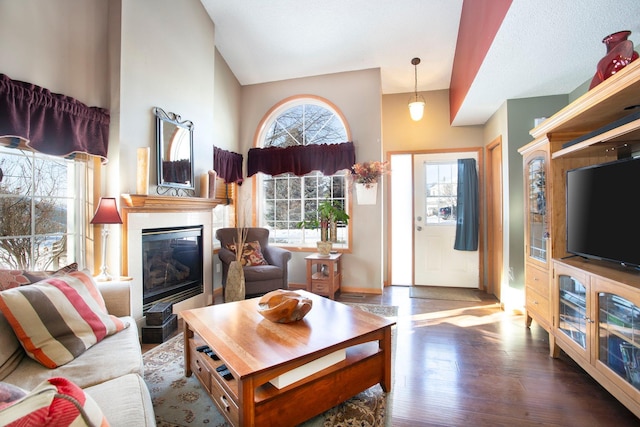
<svg viewBox="0 0 640 427"><path fill-rule="evenodd" d="M545 167L546 161L542 156L531 159L526 167L528 197L526 215L529 230L526 244L529 256L542 262L547 262L547 238L549 237Z"/></svg>

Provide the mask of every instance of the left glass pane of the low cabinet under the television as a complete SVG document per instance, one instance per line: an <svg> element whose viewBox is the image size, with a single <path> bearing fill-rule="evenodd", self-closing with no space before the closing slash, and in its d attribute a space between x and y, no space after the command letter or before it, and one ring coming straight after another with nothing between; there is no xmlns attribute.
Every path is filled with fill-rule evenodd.
<svg viewBox="0 0 640 427"><path fill-rule="evenodd" d="M578 279L559 275L558 329L582 349L587 348L587 289Z"/></svg>

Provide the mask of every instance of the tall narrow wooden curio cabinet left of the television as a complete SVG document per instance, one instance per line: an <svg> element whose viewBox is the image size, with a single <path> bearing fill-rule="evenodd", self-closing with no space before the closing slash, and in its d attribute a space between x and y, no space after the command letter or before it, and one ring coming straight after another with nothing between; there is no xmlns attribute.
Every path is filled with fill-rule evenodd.
<svg viewBox="0 0 640 427"><path fill-rule="evenodd" d="M547 191L549 141L537 139L522 147L524 162L524 239L526 323L532 319L551 329L550 240L551 203Z"/></svg>

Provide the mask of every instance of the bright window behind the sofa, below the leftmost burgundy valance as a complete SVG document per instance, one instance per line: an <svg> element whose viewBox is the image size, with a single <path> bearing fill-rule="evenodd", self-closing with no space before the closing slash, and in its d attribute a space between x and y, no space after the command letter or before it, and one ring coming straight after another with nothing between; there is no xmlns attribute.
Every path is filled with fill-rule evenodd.
<svg viewBox="0 0 640 427"><path fill-rule="evenodd" d="M82 226L75 206L84 163L0 148L0 268L57 269L73 262ZM81 194L82 193L82 194Z"/></svg>

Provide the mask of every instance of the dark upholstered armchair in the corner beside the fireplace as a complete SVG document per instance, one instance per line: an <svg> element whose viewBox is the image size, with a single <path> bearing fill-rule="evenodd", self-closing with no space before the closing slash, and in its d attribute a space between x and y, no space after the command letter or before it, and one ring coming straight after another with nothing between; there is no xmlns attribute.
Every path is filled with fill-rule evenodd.
<svg viewBox="0 0 640 427"><path fill-rule="evenodd" d="M216 239L220 241L218 257L222 262L222 290L227 282L229 264L235 261L236 254L229 249L234 245L238 232L236 228L220 228L216 231ZM264 295L275 289L288 289L287 264L291 259L291 252L277 246L269 245L269 230L266 228L247 228L246 243L258 241L262 255L266 260L265 265L245 265L244 271L245 294L249 297Z"/></svg>

